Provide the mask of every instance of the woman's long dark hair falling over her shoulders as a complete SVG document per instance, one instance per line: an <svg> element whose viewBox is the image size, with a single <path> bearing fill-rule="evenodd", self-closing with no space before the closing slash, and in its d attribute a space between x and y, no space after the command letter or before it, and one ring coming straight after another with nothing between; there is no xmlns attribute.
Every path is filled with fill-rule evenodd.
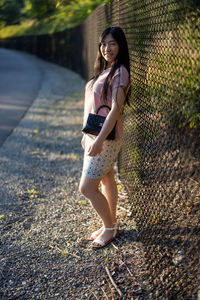
<svg viewBox="0 0 200 300"><path fill-rule="evenodd" d="M107 61L104 59L104 57L101 54L101 43L103 39L108 35L111 34L114 40L117 42L119 46L119 53L115 59L114 64L111 67L111 70L104 82L104 85L101 90L101 97L106 101L107 99L107 92L109 85L111 83L112 77L115 74L116 70L121 66L124 65L127 69L130 77L130 62L129 62L129 53L128 53L128 45L126 41L125 34L121 27L119 26L109 26L107 27L101 34L99 39L99 50L97 53L95 65L94 65L94 81L97 80L99 75L107 68ZM125 102L128 103L128 95L126 96Z"/></svg>

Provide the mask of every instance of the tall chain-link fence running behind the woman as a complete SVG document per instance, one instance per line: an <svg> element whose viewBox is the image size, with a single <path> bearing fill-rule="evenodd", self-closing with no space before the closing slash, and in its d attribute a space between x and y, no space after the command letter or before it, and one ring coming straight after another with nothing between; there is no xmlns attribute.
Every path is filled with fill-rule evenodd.
<svg viewBox="0 0 200 300"><path fill-rule="evenodd" d="M198 299L199 2L107 1L75 29L14 42L89 78L98 36L110 24L124 29L130 52L118 165L146 249L148 299Z"/></svg>

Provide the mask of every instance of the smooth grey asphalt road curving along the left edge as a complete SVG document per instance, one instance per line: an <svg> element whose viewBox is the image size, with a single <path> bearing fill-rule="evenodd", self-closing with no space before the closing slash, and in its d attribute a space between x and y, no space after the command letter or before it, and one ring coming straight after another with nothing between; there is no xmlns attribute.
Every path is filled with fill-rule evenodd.
<svg viewBox="0 0 200 300"><path fill-rule="evenodd" d="M42 80L36 57L0 49L0 147L37 97Z"/></svg>

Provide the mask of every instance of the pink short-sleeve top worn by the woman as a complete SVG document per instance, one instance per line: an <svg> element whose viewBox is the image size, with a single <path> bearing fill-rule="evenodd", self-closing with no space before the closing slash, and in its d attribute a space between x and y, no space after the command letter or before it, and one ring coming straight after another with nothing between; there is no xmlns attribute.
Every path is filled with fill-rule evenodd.
<svg viewBox="0 0 200 300"><path fill-rule="evenodd" d="M103 87L103 84L106 80L106 77L108 76L111 68L108 68L104 70L95 83L93 84L93 79L90 80L85 88L85 107L84 107L84 122L83 125L86 124L87 117L89 113L95 113L96 110L98 109L99 106L106 104L110 108L112 107L112 91L113 89L117 87L123 87L125 90L127 89L129 85L129 73L127 69L122 65L120 68L116 70L112 77L111 85L108 88L108 93L107 93L107 100L104 102L103 99L101 99L100 94L101 94L101 89ZM109 109L107 108L102 108L99 111L99 115L101 116L107 116L109 113ZM123 124L122 124L122 114L120 114L119 118L117 119L117 125L116 125L116 139L122 138L123 135Z"/></svg>

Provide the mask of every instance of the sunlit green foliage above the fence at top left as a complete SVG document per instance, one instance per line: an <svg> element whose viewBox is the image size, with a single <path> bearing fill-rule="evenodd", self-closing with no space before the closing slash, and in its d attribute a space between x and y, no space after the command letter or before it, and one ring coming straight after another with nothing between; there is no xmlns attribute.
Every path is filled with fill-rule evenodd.
<svg viewBox="0 0 200 300"><path fill-rule="evenodd" d="M0 29L0 38L45 33L52 34L62 31L82 23L102 2L104 1L25 0L24 8L21 11L20 26L7 26ZM2 27L4 25L5 23L2 23Z"/></svg>

